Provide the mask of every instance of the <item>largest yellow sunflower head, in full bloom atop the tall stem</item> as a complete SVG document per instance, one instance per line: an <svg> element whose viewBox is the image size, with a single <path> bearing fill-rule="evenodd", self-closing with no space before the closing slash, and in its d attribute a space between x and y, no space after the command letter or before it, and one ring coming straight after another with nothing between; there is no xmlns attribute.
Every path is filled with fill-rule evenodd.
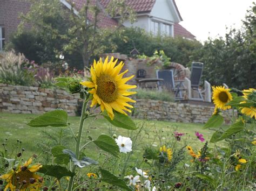
<svg viewBox="0 0 256 191"><path fill-rule="evenodd" d="M133 108L132 105L127 102L136 102L126 97L136 94L134 91L127 91L136 88L136 86L125 84L132 79L134 75L123 78L123 75L127 73L128 70L120 73L124 63L121 61L116 66L117 61L118 59L114 60L113 57L111 57L109 62L108 57L105 59L104 63L101 58L98 62L94 61L93 66L91 66L91 81L81 82L83 86L92 88L89 91L89 93L93 95L91 107L99 104L100 109L102 111L106 110L112 120L114 118L113 110L127 115L125 111L131 112L131 110L126 107Z"/></svg>

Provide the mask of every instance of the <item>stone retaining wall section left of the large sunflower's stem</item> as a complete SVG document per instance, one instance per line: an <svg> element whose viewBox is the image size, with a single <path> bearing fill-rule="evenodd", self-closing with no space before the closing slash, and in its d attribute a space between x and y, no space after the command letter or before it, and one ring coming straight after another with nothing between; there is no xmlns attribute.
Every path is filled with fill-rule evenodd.
<svg viewBox="0 0 256 191"><path fill-rule="evenodd" d="M0 112L42 114L57 108L76 115L79 95L64 90L0 84Z"/></svg>

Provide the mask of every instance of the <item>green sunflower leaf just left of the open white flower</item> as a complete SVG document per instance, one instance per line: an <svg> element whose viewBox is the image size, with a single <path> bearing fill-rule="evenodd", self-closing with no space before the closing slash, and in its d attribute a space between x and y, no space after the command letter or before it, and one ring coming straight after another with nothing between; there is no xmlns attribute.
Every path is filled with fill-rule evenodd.
<svg viewBox="0 0 256 191"><path fill-rule="evenodd" d="M114 139L107 135L100 135L96 140L93 140L99 148L119 158L119 147Z"/></svg>

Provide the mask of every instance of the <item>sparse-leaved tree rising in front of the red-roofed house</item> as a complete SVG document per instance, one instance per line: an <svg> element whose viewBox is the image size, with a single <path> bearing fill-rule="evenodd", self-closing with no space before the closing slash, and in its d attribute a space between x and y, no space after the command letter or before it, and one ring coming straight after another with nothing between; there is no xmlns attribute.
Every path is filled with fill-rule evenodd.
<svg viewBox="0 0 256 191"><path fill-rule="evenodd" d="M89 66L92 55L103 53L105 46L102 41L109 38L114 29L103 29L98 26L102 10L98 0L87 0L77 12L75 4L68 1L70 9L59 0L30 0L30 11L23 15L23 21L33 25L33 30L44 41L47 47L52 47L56 55L60 52L82 56L84 68ZM117 4L124 6L125 3ZM119 7L116 6L116 9ZM45 11L47 10L47 11ZM120 13L120 20L134 20L132 12ZM55 44L52 44L55 43Z"/></svg>

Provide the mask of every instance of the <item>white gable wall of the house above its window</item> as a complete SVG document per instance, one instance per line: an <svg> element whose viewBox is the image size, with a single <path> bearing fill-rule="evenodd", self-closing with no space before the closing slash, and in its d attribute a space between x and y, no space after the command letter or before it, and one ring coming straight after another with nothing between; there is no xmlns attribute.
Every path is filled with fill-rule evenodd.
<svg viewBox="0 0 256 191"><path fill-rule="evenodd" d="M150 16L174 23L174 15L171 12L171 5L168 1L172 0L156 0L156 3L154 3L152 11L150 12Z"/></svg>

